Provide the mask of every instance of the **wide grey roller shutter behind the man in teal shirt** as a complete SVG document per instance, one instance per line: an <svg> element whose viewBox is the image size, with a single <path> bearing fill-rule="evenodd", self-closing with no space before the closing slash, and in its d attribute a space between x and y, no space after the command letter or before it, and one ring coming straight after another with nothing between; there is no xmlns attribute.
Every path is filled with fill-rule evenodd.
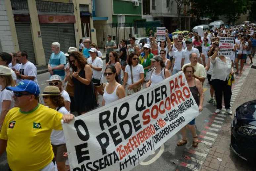
<svg viewBox="0 0 256 171"><path fill-rule="evenodd" d="M40 24L46 64L52 54L51 45L59 42L66 53L70 46L76 47L74 24Z"/></svg>

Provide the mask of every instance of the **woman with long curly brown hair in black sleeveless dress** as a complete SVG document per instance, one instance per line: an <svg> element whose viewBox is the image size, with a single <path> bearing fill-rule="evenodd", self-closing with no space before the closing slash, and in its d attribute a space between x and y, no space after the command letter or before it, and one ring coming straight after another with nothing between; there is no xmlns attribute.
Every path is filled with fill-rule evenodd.
<svg viewBox="0 0 256 171"><path fill-rule="evenodd" d="M94 87L92 84L92 69L87 64L83 54L73 51L69 56L70 67L67 71L67 80L74 85L74 108L78 115L94 109L97 105Z"/></svg>

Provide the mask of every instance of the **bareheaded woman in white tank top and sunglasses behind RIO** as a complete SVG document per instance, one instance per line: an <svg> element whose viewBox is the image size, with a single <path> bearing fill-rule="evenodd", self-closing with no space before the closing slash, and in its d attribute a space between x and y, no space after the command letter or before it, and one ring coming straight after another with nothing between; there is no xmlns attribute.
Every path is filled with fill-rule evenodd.
<svg viewBox="0 0 256 171"><path fill-rule="evenodd" d="M102 106L125 97L125 90L123 86L118 83L118 75L116 74L115 67L108 65L105 69L104 76L108 83L104 88Z"/></svg>

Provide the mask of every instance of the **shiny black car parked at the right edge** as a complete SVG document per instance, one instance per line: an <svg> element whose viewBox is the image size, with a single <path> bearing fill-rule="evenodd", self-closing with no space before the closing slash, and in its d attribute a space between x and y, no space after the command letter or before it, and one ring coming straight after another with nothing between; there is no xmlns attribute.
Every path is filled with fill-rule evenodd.
<svg viewBox="0 0 256 171"><path fill-rule="evenodd" d="M256 100L236 109L231 124L230 147L242 159L256 161Z"/></svg>

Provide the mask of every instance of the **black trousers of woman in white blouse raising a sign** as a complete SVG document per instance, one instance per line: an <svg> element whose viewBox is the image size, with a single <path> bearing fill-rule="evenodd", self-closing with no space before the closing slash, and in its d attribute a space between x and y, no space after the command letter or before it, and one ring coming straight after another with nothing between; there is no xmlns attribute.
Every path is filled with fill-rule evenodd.
<svg viewBox="0 0 256 171"><path fill-rule="evenodd" d="M222 109L222 93L224 95L224 104L225 109L230 108L230 99L231 99L231 86L228 85L227 79L225 81L219 79L212 80L212 86L216 96L217 109Z"/></svg>

